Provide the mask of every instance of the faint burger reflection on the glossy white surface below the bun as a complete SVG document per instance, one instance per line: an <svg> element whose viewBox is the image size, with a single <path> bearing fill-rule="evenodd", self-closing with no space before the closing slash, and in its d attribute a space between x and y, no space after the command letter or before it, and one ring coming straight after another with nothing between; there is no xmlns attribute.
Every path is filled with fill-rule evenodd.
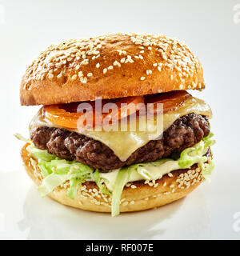
<svg viewBox="0 0 240 256"><path fill-rule="evenodd" d="M153 239L165 232L158 224L172 218L183 201L111 218L110 214L78 210L50 198L42 199L31 186L23 206L24 218L18 227L22 231L30 228L29 239Z"/></svg>

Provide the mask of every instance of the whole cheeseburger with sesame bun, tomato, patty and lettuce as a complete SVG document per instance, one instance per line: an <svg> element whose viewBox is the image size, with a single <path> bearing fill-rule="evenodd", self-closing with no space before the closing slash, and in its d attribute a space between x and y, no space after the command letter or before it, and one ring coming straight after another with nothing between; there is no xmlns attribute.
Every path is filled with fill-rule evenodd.
<svg viewBox="0 0 240 256"><path fill-rule="evenodd" d="M22 77L42 105L21 154L46 195L96 212L146 210L185 197L211 174L202 66L162 34L105 34L53 44Z"/></svg>

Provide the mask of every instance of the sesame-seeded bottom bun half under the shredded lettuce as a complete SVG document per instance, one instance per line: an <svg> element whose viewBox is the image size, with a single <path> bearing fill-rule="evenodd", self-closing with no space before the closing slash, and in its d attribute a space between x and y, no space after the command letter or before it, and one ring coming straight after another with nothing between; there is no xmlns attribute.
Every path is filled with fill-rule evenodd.
<svg viewBox="0 0 240 256"><path fill-rule="evenodd" d="M42 172L38 162L23 146L21 154L27 174L39 186L42 182ZM146 183L145 181L130 182L122 191L120 211L146 210L166 205L185 197L193 191L202 181L201 168L195 164L190 169L174 170L162 178ZM76 198L66 196L69 182L54 189L48 196L66 206L92 210L98 212L111 212L111 198L98 189L95 182L84 182L78 190Z"/></svg>

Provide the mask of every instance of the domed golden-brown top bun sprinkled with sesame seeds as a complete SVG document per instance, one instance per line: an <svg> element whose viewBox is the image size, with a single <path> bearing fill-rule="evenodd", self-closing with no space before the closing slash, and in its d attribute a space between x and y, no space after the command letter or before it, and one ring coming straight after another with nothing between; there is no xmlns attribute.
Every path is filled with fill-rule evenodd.
<svg viewBox="0 0 240 256"><path fill-rule="evenodd" d="M186 44L161 34L106 34L51 45L22 77L22 105L205 88Z"/></svg>

